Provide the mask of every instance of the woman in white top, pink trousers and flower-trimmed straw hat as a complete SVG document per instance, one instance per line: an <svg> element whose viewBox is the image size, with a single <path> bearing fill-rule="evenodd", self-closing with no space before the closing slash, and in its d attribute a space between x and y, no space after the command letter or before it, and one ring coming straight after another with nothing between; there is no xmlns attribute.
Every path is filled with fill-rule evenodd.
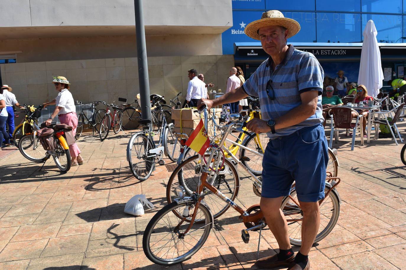
<svg viewBox="0 0 406 270"><path fill-rule="evenodd" d="M69 92L69 81L62 76L53 77L52 83L55 85L55 90L58 91L58 96L50 102L43 103L44 108L48 105L56 105L51 117L45 121L46 125L51 125L52 120L58 115L60 123L70 125L73 134L76 134L78 126L78 116L76 115L75 101L73 100L71 92ZM71 166L78 166L83 164L83 157L80 155L80 149L74 143L69 145L69 153L71 154Z"/></svg>

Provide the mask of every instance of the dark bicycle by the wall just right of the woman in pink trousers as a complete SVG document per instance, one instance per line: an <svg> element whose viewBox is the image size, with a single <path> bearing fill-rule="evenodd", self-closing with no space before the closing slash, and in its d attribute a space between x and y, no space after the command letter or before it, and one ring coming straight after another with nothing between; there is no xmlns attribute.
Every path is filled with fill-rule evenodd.
<svg viewBox="0 0 406 270"><path fill-rule="evenodd" d="M76 100L76 104L81 105L80 111L78 112L78 127L76 128L76 134L75 134L76 140L78 140L80 138L80 136L82 135L83 126L85 124L88 124L89 128L92 129L93 135L95 134L95 130L97 133L99 133L100 121L102 121L102 118L106 114L106 110L104 110L104 109L97 110L96 106L99 104L99 102L100 101L92 102L91 108L84 109L85 104ZM85 110L91 110L91 116L89 117L90 119L87 117Z"/></svg>

